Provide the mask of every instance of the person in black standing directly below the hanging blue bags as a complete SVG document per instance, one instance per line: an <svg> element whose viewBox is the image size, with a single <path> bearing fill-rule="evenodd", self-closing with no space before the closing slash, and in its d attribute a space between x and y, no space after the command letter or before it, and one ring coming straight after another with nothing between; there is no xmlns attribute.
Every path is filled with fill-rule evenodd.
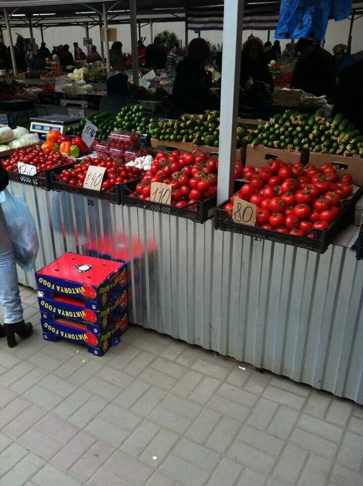
<svg viewBox="0 0 363 486"><path fill-rule="evenodd" d="M291 87L332 98L335 90L333 56L311 39L299 39L295 50L301 56L293 72Z"/></svg>

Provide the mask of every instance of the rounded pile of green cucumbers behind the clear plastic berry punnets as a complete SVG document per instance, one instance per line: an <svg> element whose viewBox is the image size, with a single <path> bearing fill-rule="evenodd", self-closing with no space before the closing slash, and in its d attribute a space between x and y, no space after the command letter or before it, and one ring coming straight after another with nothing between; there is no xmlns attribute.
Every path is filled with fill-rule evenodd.
<svg viewBox="0 0 363 486"><path fill-rule="evenodd" d="M126 130L142 135L148 133L150 123L158 122L158 120L158 118L153 117L149 108L140 104L128 104L117 114L114 131L123 132Z"/></svg>

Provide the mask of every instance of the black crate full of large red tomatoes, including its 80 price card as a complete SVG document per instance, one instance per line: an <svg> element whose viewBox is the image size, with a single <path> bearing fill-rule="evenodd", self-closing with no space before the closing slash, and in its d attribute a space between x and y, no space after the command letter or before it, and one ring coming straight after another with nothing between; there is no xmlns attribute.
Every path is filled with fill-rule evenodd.
<svg viewBox="0 0 363 486"><path fill-rule="evenodd" d="M246 165L246 183L215 210L215 228L324 253L354 220L363 188L330 164Z"/></svg>

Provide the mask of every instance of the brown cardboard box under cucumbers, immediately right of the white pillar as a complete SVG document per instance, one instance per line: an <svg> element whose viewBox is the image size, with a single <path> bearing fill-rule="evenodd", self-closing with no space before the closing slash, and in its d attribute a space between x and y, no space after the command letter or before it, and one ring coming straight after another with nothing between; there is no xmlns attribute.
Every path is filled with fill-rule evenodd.
<svg viewBox="0 0 363 486"><path fill-rule="evenodd" d="M252 167L263 167L266 164L266 157L272 156L280 159L285 163L295 164L296 162L302 162L307 164L309 160L308 152L290 152L286 148L270 148L264 145L253 146L247 145L246 151L246 165L252 165ZM310 160L310 162L312 162Z"/></svg>

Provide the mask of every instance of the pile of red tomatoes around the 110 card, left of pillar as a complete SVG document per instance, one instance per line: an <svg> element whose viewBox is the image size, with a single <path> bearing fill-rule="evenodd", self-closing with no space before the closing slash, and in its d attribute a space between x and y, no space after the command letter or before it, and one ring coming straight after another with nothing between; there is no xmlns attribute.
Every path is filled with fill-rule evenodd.
<svg viewBox="0 0 363 486"><path fill-rule="evenodd" d="M217 158L208 157L204 152L158 152L151 169L137 184L136 194L140 199L149 201L151 182L171 184L171 204L182 208L215 196L217 170Z"/></svg>

